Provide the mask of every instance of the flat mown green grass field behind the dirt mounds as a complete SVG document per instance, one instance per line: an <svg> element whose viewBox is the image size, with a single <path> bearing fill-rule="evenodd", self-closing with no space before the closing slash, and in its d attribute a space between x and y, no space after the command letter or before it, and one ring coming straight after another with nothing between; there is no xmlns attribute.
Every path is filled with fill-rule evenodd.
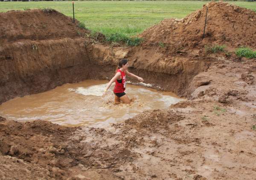
<svg viewBox="0 0 256 180"><path fill-rule="evenodd" d="M121 32L133 36L165 18L182 18L206 1L75 1L75 18L105 35ZM256 11L256 2L232 1ZM71 1L0 2L0 12L52 8L73 17Z"/></svg>

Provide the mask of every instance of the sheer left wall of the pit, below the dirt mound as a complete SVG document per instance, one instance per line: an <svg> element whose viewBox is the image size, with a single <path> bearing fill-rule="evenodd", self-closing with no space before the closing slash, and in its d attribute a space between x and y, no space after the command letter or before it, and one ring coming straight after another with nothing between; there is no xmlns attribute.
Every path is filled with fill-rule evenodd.
<svg viewBox="0 0 256 180"><path fill-rule="evenodd" d="M89 78L86 57L84 40L79 38L0 47L0 103Z"/></svg>

